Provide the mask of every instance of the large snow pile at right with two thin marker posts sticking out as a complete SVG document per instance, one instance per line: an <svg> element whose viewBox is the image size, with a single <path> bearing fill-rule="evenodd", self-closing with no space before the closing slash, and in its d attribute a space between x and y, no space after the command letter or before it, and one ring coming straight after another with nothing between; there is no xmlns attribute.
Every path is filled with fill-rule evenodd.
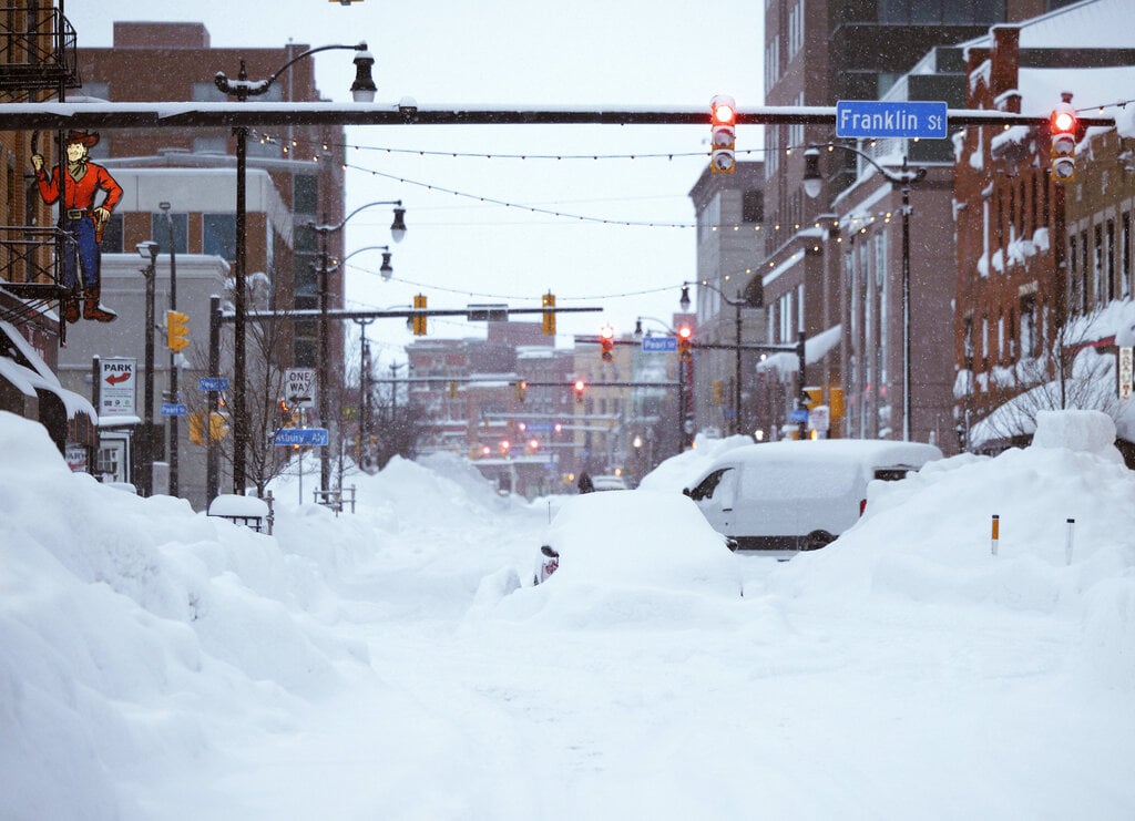
<svg viewBox="0 0 1135 821"><path fill-rule="evenodd" d="M776 577L792 595L900 596L1078 617L1085 650L1135 689L1135 473L1095 410L1037 414L1034 445L873 482L867 511ZM993 544L993 517L997 545Z"/></svg>

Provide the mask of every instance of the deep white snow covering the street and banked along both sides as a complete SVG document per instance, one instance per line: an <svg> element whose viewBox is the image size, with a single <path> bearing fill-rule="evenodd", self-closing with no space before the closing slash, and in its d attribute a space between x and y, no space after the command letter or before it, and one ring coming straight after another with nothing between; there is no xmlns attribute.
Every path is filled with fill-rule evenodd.
<svg viewBox="0 0 1135 821"><path fill-rule="evenodd" d="M822 551L737 556L726 598L530 586L548 502L457 462L359 475L338 518L284 483L269 539L73 476L37 430L0 414L5 819L1135 814L1107 455L930 466Z"/></svg>

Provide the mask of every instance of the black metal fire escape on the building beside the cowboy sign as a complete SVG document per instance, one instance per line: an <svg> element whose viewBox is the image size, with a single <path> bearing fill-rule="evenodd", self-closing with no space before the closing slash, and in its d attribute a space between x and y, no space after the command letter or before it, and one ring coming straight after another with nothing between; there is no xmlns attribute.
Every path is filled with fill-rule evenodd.
<svg viewBox="0 0 1135 821"><path fill-rule="evenodd" d="M75 29L60 8L30 0L22 6L0 7L0 101L66 100L68 88L81 85ZM45 210L32 177L30 156L43 153L56 135L39 132L16 135L12 150L27 167L19 183L9 180L8 201L0 203L0 319L15 324L36 320L67 295L62 286L62 261L76 253L73 237L58 226L42 225ZM42 145L41 145L42 139ZM60 141L57 138L56 143ZM66 177L66 175L65 175ZM59 322L65 342L66 323Z"/></svg>

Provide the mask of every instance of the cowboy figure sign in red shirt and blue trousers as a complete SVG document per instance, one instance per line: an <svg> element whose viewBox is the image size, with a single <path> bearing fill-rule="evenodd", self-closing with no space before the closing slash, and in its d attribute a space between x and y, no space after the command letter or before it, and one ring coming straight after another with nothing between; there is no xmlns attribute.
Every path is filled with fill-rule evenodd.
<svg viewBox="0 0 1135 821"><path fill-rule="evenodd" d="M78 248L78 265L83 272L83 319L110 322L118 314L99 304L100 252L102 229L110 219L110 212L123 197L123 188L102 166L87 160L87 152L99 142L96 133L70 132L67 135L67 179L64 181L66 202L62 209L62 229L75 237ZM35 181L40 186L43 202L53 205L59 200L59 166L51 169L49 178L43 170L43 155L32 154L32 167L35 169ZM94 204L95 196L103 192L102 202ZM68 322L78 322L78 301L75 288L78 278L75 271L75 254L64 257L64 287L68 296L64 297L64 316Z"/></svg>

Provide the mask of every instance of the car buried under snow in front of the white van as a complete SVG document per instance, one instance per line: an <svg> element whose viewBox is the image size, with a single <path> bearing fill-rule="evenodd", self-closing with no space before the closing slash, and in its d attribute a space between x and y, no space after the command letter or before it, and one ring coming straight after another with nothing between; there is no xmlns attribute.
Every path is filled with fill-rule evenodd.
<svg viewBox="0 0 1135 821"><path fill-rule="evenodd" d="M579 582L738 595L729 541L676 493L631 490L568 499L548 525L533 584Z"/></svg>

